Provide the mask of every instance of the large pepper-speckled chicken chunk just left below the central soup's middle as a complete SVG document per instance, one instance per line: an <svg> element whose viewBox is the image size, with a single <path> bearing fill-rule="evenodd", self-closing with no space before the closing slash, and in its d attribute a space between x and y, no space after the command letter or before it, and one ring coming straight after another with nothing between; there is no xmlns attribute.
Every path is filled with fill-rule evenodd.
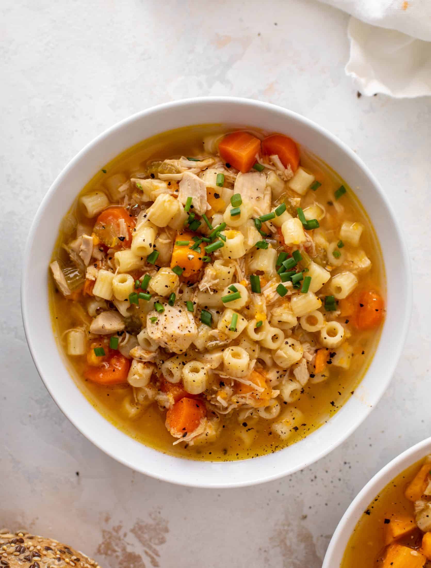
<svg viewBox="0 0 431 568"><path fill-rule="evenodd" d="M184 353L197 337L193 314L187 309L164 304L164 312L147 314L147 333L160 346L174 353ZM157 318L151 321L151 318Z"/></svg>

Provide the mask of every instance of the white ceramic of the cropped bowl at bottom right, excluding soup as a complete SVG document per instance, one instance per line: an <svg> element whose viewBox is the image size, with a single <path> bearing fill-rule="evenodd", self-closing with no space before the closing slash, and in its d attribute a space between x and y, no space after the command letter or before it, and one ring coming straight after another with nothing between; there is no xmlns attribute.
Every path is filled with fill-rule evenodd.
<svg viewBox="0 0 431 568"><path fill-rule="evenodd" d="M431 438L426 438L394 458L370 479L341 517L329 542L322 568L339 568L349 538L365 509L392 479L429 453L431 453Z"/></svg>

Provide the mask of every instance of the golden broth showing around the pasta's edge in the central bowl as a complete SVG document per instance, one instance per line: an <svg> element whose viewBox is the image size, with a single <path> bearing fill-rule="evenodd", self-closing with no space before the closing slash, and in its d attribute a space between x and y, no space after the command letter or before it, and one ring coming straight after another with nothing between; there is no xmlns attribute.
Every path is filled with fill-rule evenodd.
<svg viewBox="0 0 431 568"><path fill-rule="evenodd" d="M104 178L113 174L125 173L128 178L133 176L135 173L143 170L142 164L148 160L197 155L202 152L203 136L230 131L233 131L233 128L226 128L217 124L195 126L164 132L142 141L104 166L103 170L98 172L87 183L79 195L95 189L103 189ZM259 137L265 135L261 131L250 129L248 131ZM372 267L365 275L360 275L357 290L371 288L379 291L384 296L384 268L381 250L374 229L360 202L348 185L331 168L305 149L301 151L301 165L309 169L316 179L322 183L318 190L308 191L301 204L307 206L316 200L324 205L327 216L320 222L320 227L328 232L332 240L337 239L336 235L341 222L344 220L361 222L364 225L361 247L370 258ZM348 189L348 194L343 197L345 211L342 219L337 217L335 206L333 205L334 191L341 184ZM82 220L82 214L78 207L78 197L61 223L53 259L64 257L66 253L61 249L61 245L73 237L74 227L76 226L75 219ZM84 223L88 224L88 220L84 219ZM335 225L336 228L334 228ZM64 352L65 332L79 325L80 322L82 323L83 319L89 323L91 318L86 314L86 310L81 304L70 302L70 300L66 300L64 296L58 293L54 283L51 281L49 295L54 334L60 343L61 351ZM238 424L238 420L234 416L222 417L223 428L221 435L214 442L188 446L177 444L173 446L172 441L174 441L174 438L164 427L164 415L166 413L160 412L157 404L154 403L147 408L136 420L128 419L122 415L120 408L124 396L131 392L131 387L101 387L88 382L82 378L82 371L86 362L85 356L72 358L65 355L65 357L67 357L67 366L71 375L90 403L107 420L111 421L112 424L129 436L162 452L185 458L210 461L242 460L262 456L286 445L293 444L319 428L320 425L324 424L335 414L348 398L353 395L358 383L364 376L367 366L373 357L380 332L381 327L372 331L357 331L353 329L352 337L349 340L354 353L350 369L345 371L338 367L337 369L331 368L329 369L330 378L326 382L318 384L307 383L300 398L294 403L294 406L303 412L305 420L287 442L281 441L278 437L272 435L271 421L260 418L257 424L253 424L255 440L248 448L244 446L243 439L239 435L239 430L245 429L247 431L248 425L246 421L244 422L245 426Z"/></svg>

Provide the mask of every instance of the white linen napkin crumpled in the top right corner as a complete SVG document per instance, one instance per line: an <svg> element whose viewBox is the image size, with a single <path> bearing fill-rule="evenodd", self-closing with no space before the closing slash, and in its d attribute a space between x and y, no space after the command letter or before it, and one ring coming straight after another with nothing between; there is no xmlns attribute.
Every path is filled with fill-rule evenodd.
<svg viewBox="0 0 431 568"><path fill-rule="evenodd" d="M346 73L362 94L431 95L431 0L321 0L352 15Z"/></svg>

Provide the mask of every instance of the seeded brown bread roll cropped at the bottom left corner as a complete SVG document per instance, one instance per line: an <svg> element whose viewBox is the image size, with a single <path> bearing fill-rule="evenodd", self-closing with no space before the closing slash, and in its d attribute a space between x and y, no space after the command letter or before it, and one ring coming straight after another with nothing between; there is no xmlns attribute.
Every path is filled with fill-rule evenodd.
<svg viewBox="0 0 431 568"><path fill-rule="evenodd" d="M52 538L0 531L0 568L101 568L95 560Z"/></svg>

